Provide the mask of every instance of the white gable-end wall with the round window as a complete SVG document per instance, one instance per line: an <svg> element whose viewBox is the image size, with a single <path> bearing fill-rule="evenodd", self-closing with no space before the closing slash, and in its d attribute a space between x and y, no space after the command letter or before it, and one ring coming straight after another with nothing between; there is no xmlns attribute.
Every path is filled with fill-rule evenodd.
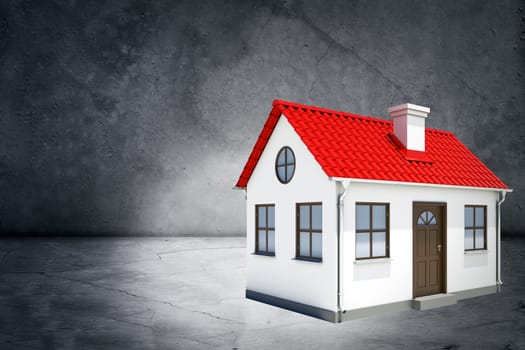
<svg viewBox="0 0 525 350"><path fill-rule="evenodd" d="M295 153L288 184L275 175L283 146ZM295 260L295 204L323 203L323 261ZM275 257L255 255L255 205L275 204ZM337 206L335 183L317 164L286 117L281 116L247 186L247 288L296 302L336 309Z"/></svg>

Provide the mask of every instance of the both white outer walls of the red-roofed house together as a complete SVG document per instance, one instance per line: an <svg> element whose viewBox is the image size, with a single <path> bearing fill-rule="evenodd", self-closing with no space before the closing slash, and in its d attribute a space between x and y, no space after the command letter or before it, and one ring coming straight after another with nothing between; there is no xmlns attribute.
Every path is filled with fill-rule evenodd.
<svg viewBox="0 0 525 350"><path fill-rule="evenodd" d="M275 175L283 146L295 153L288 184ZM336 310L337 193L286 117L281 117L247 186L247 289ZM412 299L413 202L447 204L447 292L496 284L497 192L352 182L342 235L342 304L351 310ZM295 259L295 204L323 203L322 263ZM390 259L355 264L355 203L390 203ZM275 204L275 257L255 255L255 205ZM464 206L487 206L487 251L465 254Z"/></svg>

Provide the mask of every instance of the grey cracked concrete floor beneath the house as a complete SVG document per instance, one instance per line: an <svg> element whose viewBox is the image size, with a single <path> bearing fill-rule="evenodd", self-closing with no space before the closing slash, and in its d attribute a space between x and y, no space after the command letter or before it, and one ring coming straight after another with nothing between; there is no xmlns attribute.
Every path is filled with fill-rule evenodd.
<svg viewBox="0 0 525 350"><path fill-rule="evenodd" d="M525 349L525 240L498 295L341 324L244 299L245 239L0 240L1 349Z"/></svg>

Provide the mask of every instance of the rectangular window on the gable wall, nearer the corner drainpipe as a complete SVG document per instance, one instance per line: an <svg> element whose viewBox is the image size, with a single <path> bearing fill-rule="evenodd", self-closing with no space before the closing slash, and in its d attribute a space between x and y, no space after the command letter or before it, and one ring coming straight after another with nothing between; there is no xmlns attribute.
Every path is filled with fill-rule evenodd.
<svg viewBox="0 0 525 350"><path fill-rule="evenodd" d="M322 203L298 203L296 256L320 261L323 257Z"/></svg>

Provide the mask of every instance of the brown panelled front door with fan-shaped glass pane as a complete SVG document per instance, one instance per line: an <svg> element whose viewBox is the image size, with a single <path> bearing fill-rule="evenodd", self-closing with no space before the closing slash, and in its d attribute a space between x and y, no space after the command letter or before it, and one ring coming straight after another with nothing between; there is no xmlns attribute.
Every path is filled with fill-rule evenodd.
<svg viewBox="0 0 525 350"><path fill-rule="evenodd" d="M414 203L414 298L445 292L446 205Z"/></svg>

